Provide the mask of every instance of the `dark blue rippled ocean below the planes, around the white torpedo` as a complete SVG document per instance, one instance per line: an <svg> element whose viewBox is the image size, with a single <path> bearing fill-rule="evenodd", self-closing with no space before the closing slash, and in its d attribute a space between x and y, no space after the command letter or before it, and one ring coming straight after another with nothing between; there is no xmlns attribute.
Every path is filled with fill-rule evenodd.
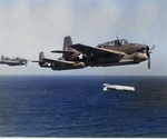
<svg viewBox="0 0 167 139"><path fill-rule="evenodd" d="M0 137L167 137L167 77L2 76Z"/></svg>

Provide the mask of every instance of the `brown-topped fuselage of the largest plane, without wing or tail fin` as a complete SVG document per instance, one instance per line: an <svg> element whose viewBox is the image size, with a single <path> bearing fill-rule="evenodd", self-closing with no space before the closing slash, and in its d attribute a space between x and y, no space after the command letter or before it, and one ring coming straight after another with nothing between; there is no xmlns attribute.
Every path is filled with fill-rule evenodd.
<svg viewBox="0 0 167 139"><path fill-rule="evenodd" d="M136 64L141 61L145 61L148 59L146 49L146 44L139 44L139 43L125 43L121 46L105 46L99 47L98 49L107 49L112 50L117 52L122 52L121 56L114 57L111 53L107 54L96 54L96 57L84 54L81 59L76 57L76 61L82 61L86 63L86 66L91 67L108 67L108 66L125 66L125 64ZM75 59L75 58L72 58Z"/></svg>

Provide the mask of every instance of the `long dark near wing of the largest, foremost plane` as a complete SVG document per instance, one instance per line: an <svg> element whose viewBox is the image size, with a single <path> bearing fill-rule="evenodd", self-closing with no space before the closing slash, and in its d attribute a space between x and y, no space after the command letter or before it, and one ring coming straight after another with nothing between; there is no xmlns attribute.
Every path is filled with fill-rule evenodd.
<svg viewBox="0 0 167 139"><path fill-rule="evenodd" d="M82 52L82 53L88 54L89 57L110 56L110 57L115 58L118 56L120 56L120 57L125 56L125 53L120 52L120 51L114 51L114 50L109 50L109 49L105 49L105 48L92 48L92 47L88 47L88 46L80 44L80 43L72 44L70 47Z"/></svg>

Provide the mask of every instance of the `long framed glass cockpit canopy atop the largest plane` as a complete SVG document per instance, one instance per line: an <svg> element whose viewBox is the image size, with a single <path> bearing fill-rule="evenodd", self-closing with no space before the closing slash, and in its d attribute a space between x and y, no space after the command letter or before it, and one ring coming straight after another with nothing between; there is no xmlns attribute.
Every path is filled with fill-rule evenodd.
<svg viewBox="0 0 167 139"><path fill-rule="evenodd" d="M121 46L121 44L125 44L125 43L128 43L127 40L125 39L119 39L119 40L112 40L112 41L107 41L105 43L100 43L98 44L97 47L98 48L104 48L104 47L118 47L118 46Z"/></svg>

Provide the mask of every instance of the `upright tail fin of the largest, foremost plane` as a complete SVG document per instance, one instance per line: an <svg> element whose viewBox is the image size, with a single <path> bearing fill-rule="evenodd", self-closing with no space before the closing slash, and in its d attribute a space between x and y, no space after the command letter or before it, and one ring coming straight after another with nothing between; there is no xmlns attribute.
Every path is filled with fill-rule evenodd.
<svg viewBox="0 0 167 139"><path fill-rule="evenodd" d="M65 37L65 39L63 39L63 51L70 51L69 53L68 52L63 52L62 53L62 58L65 58L65 59L69 59L71 56L72 56L72 52L71 51L73 51L75 52L75 49L73 48L71 48L71 47L69 47L69 46L71 46L72 44L72 40L71 40L71 37L70 36L67 36L67 37Z"/></svg>

